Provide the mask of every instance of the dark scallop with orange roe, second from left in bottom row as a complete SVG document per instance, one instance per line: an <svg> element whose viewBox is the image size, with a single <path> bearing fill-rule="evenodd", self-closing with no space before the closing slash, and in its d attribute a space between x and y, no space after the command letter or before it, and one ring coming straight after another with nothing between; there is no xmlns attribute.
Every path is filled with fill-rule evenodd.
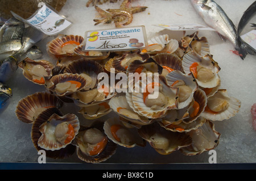
<svg viewBox="0 0 256 181"><path fill-rule="evenodd" d="M73 144L76 145L79 159L87 163L104 162L117 150L117 144L109 140L100 122L81 127Z"/></svg>

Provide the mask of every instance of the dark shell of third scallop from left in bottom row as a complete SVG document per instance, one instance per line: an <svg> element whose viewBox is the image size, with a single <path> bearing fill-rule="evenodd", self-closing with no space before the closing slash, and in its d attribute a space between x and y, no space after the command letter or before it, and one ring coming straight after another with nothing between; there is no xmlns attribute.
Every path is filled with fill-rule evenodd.
<svg viewBox="0 0 256 181"><path fill-rule="evenodd" d="M118 125L123 131L123 134L120 140L117 140L112 133L112 126ZM143 140L141 136L139 136L137 132L137 128L127 128L123 125L122 121L117 119L117 117L110 118L104 123L104 132L108 136L110 140L112 140L115 144L120 146L124 146L125 148L133 148L134 146L146 146L146 141Z"/></svg>

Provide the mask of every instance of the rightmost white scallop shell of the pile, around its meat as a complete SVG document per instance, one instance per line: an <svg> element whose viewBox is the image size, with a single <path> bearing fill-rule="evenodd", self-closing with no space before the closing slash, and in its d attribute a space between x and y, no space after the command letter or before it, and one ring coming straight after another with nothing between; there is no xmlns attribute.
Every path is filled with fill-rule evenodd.
<svg viewBox="0 0 256 181"><path fill-rule="evenodd" d="M201 116L205 117L206 119L212 120L212 121L222 121L230 119L230 117L235 116L241 107L241 101L233 98L232 96L228 95L228 91L226 89L220 89L218 90L213 96L210 96L209 99L224 99L228 102L228 107L220 112L217 113L209 113L206 110L201 114Z"/></svg>

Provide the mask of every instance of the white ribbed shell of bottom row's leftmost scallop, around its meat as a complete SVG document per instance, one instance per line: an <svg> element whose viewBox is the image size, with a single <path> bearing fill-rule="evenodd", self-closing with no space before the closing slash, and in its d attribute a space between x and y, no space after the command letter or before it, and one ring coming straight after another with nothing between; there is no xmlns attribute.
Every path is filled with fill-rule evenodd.
<svg viewBox="0 0 256 181"><path fill-rule="evenodd" d="M62 144L61 142L57 141L55 136L55 129L58 124L60 123L68 123L71 124L74 131L74 137L69 140L67 143ZM38 146L40 148L46 150L59 150L61 148L65 148L65 146L71 144L71 141L75 139L75 136L78 134L80 128L79 119L73 113L68 113L64 116L59 116L56 113L53 113L48 120L46 120L39 128L39 131L42 133L38 140Z"/></svg>

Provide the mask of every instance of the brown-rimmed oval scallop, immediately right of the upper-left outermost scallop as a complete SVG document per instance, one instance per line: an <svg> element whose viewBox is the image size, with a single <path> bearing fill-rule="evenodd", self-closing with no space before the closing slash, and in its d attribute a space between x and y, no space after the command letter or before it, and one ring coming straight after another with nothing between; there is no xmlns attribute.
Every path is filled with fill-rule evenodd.
<svg viewBox="0 0 256 181"><path fill-rule="evenodd" d="M87 86L86 77L80 74L63 73L54 75L46 82L46 88L58 96L72 94Z"/></svg>

